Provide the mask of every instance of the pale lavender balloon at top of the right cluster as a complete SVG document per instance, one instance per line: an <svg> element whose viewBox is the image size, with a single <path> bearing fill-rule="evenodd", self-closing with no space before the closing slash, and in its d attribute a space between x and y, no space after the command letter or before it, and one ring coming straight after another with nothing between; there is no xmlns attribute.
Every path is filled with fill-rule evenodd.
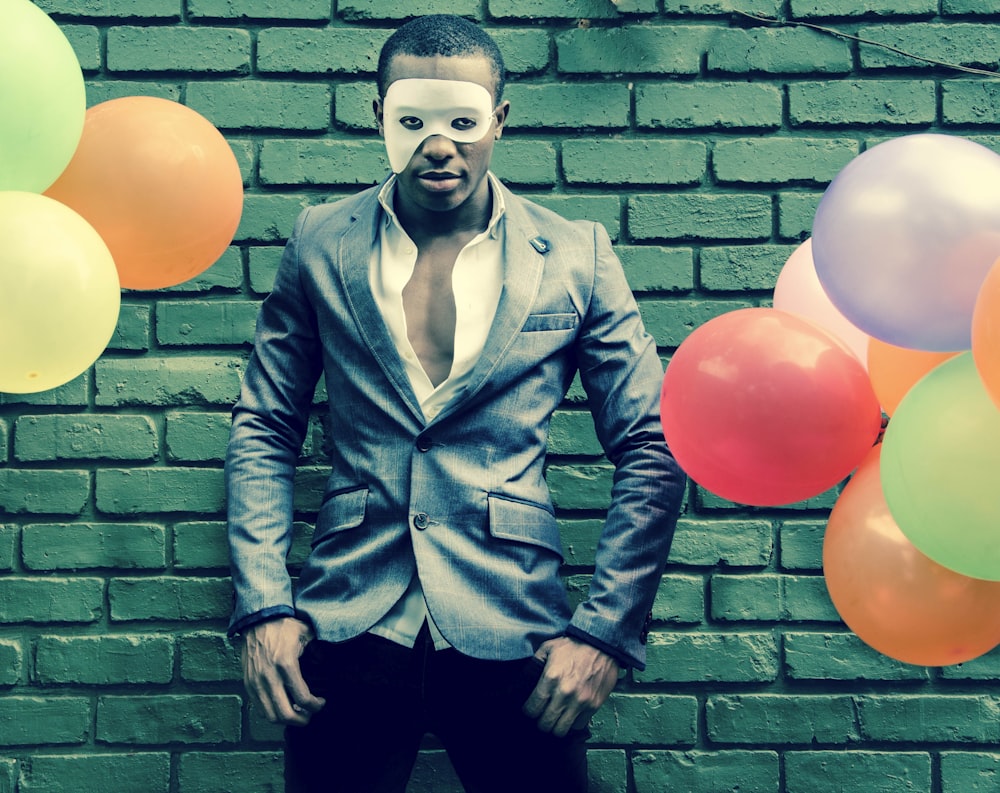
<svg viewBox="0 0 1000 793"><path fill-rule="evenodd" d="M854 158L816 209L820 283L849 322L899 347L967 350L1000 256L1000 155L919 134Z"/></svg>

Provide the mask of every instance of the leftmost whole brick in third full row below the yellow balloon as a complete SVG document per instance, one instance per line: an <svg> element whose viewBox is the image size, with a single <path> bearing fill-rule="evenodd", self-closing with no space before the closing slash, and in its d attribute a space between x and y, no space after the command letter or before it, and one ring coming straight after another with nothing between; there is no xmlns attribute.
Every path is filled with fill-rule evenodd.
<svg viewBox="0 0 1000 793"><path fill-rule="evenodd" d="M29 570L156 569L166 566L166 532L148 523L37 523L21 532Z"/></svg>

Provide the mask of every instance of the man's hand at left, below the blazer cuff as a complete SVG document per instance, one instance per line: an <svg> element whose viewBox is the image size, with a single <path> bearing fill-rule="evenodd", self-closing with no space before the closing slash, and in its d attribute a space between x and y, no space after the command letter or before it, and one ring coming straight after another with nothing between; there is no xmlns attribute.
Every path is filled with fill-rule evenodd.
<svg viewBox="0 0 1000 793"><path fill-rule="evenodd" d="M258 623L244 634L243 683L268 721L303 726L326 704L312 695L299 669L311 640L310 627L292 617Z"/></svg>

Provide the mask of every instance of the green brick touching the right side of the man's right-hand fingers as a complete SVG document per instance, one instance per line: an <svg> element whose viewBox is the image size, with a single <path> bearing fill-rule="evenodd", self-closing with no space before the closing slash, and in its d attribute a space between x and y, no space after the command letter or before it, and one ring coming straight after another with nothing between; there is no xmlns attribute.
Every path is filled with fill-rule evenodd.
<svg viewBox="0 0 1000 793"><path fill-rule="evenodd" d="M698 699L668 694L612 694L591 720L596 743L693 746Z"/></svg>

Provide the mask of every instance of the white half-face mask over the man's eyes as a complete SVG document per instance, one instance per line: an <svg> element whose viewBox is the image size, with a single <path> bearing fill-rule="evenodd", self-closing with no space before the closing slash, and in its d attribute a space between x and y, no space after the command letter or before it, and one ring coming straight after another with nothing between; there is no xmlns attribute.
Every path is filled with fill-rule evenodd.
<svg viewBox="0 0 1000 793"><path fill-rule="evenodd" d="M385 92L382 127L389 164L395 173L406 168L413 153L432 135L456 143L475 143L492 128L493 97L478 83L396 80Z"/></svg>

